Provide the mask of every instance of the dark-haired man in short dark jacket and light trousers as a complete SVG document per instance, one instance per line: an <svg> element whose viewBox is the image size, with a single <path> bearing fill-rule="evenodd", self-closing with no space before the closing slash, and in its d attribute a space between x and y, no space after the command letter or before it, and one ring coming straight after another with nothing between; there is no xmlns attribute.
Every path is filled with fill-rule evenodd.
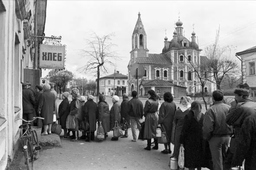
<svg viewBox="0 0 256 170"><path fill-rule="evenodd" d="M137 91L132 92L133 98L129 101L130 103L130 111L129 116L131 120L131 128L133 133L133 142L136 142L137 135L136 135L136 123L137 128L140 130L140 123L142 123L142 117L143 117L143 104L142 102L136 97Z"/></svg>

